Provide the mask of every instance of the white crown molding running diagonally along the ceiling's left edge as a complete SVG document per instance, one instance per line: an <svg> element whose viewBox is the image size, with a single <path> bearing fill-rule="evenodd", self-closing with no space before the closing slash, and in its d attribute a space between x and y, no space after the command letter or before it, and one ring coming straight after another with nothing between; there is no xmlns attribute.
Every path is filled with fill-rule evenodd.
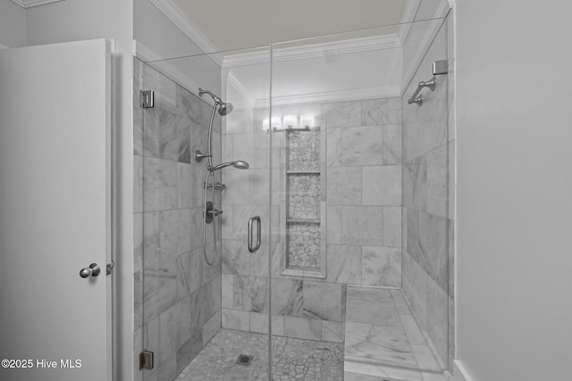
<svg viewBox="0 0 572 381"><path fill-rule="evenodd" d="M185 36L197 44L197 46L206 54L209 54L209 58L213 60L219 67L223 64L223 59L219 54L214 54L218 52L218 49L209 40L203 32L198 29L198 27L189 20L187 16L177 5L175 5L172 0L149 0L151 4L155 5L156 8L163 12L164 15L181 31Z"/></svg>

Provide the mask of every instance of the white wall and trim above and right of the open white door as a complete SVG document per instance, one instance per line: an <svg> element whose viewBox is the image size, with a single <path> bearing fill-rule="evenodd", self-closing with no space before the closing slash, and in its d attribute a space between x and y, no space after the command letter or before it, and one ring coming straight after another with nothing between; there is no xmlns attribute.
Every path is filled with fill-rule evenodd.
<svg viewBox="0 0 572 381"><path fill-rule="evenodd" d="M132 379L133 367L133 144L132 66L133 4L131 0L66 0L26 10L27 45L97 37L114 38L114 282L119 316L116 379Z"/></svg>

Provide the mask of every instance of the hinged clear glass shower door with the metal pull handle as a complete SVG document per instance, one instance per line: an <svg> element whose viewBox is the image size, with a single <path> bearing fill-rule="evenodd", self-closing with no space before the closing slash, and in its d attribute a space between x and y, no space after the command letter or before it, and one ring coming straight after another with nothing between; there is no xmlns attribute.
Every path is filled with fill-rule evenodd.
<svg viewBox="0 0 572 381"><path fill-rule="evenodd" d="M240 53L135 60L137 99L155 101L134 107L145 379L268 377L269 134L253 126L269 115L269 49L226 66ZM222 352L234 360L215 363Z"/></svg>

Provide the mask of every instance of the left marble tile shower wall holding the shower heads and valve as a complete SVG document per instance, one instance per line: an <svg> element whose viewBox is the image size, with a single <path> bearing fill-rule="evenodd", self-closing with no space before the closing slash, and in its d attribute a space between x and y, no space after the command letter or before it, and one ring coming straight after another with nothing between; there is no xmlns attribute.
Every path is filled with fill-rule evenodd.
<svg viewBox="0 0 572 381"><path fill-rule="evenodd" d="M155 90L154 108L139 108L140 89ZM202 251L206 165L191 158L197 149L206 151L212 108L137 59L133 91L135 351L156 355L155 369L136 367L135 374L172 379L221 327L220 254L208 266ZM220 126L217 118L218 147ZM220 160L220 148L215 156ZM220 252L220 227L217 236Z"/></svg>

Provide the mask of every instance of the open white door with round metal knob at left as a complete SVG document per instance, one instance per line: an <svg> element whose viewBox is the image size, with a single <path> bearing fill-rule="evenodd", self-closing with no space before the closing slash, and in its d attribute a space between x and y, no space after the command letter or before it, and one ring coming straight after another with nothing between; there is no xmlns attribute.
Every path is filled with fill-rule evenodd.
<svg viewBox="0 0 572 381"><path fill-rule="evenodd" d="M109 52L0 50L0 380L111 380Z"/></svg>

